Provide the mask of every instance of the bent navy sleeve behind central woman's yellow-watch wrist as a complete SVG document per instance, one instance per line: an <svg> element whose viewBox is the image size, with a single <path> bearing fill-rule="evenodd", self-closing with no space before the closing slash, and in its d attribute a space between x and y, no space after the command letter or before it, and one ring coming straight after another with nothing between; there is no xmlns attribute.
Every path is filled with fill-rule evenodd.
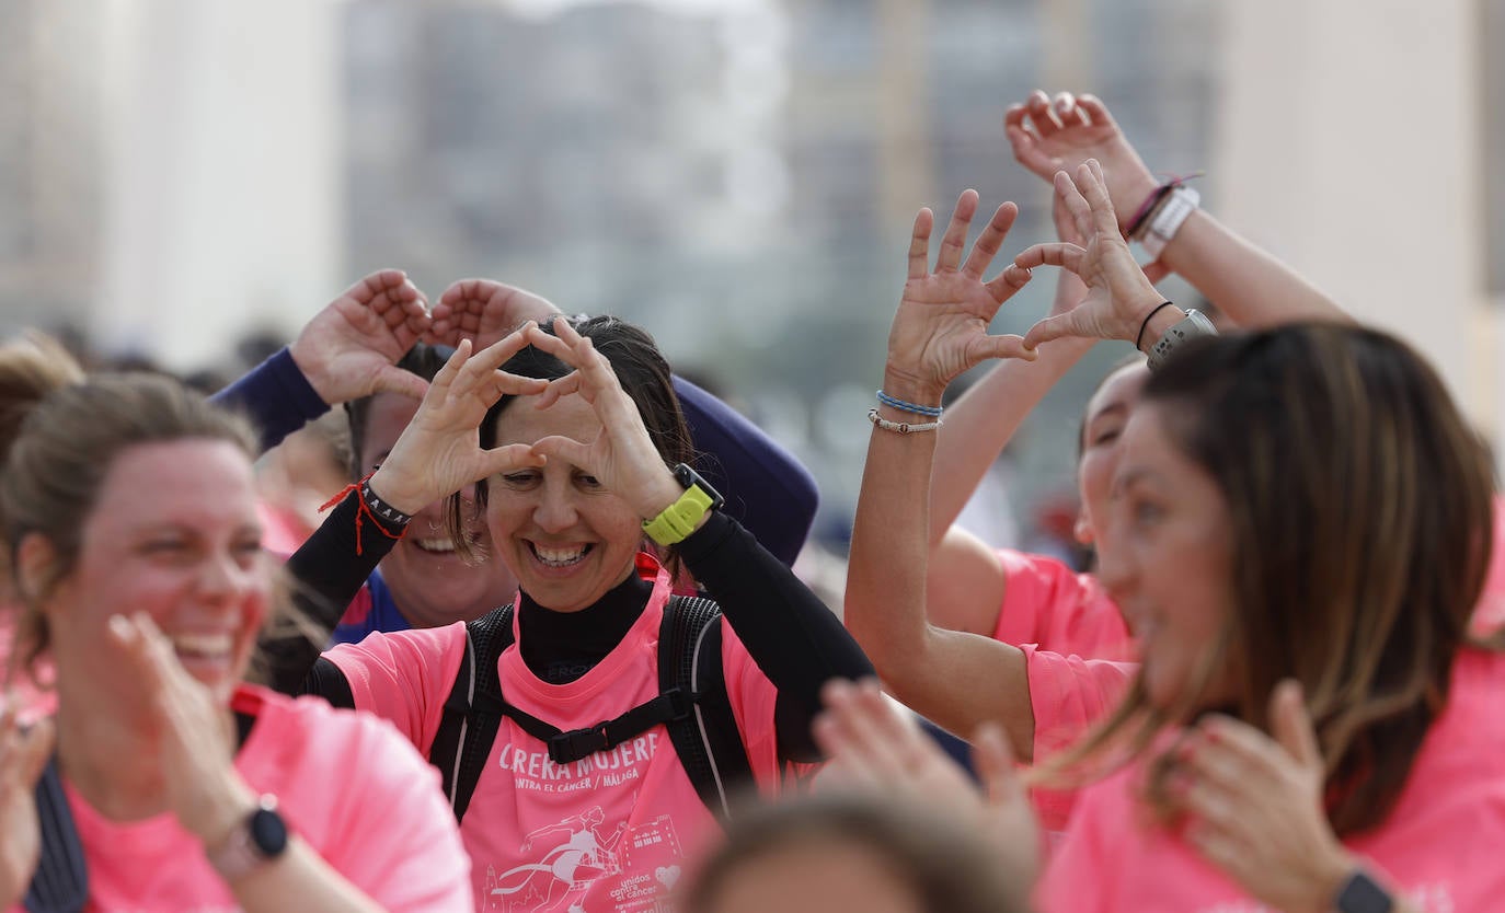
<svg viewBox="0 0 1505 913"><path fill-rule="evenodd" d="M683 378L674 393L695 450L709 454L706 480L724 510L784 564L793 564L816 519L819 493L810 471L734 409Z"/></svg>

